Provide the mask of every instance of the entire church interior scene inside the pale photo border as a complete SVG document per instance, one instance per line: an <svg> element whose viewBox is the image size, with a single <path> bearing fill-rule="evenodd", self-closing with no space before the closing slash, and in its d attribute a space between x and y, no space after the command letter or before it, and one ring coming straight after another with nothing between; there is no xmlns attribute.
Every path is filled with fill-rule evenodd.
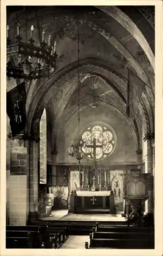
<svg viewBox="0 0 163 256"><path fill-rule="evenodd" d="M154 248L154 6L8 6L6 248Z"/></svg>

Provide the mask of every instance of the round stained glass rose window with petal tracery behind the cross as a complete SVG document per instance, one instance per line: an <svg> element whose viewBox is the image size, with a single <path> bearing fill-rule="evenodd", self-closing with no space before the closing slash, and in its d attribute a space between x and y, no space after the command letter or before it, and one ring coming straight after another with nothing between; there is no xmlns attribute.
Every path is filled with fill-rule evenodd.
<svg viewBox="0 0 163 256"><path fill-rule="evenodd" d="M106 127L95 125L88 127L87 131L82 134L82 152L89 158L93 159L95 152L96 160L108 157L115 148L115 136Z"/></svg>

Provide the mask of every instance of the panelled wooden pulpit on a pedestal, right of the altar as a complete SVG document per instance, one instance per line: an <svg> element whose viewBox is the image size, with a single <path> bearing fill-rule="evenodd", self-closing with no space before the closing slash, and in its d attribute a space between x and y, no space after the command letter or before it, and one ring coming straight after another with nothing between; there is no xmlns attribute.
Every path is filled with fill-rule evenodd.
<svg viewBox="0 0 163 256"><path fill-rule="evenodd" d="M148 199L147 178L140 170L131 170L125 175L124 199L126 202L126 217L128 224L131 219L143 223L144 202ZM130 207L130 212L129 212Z"/></svg>

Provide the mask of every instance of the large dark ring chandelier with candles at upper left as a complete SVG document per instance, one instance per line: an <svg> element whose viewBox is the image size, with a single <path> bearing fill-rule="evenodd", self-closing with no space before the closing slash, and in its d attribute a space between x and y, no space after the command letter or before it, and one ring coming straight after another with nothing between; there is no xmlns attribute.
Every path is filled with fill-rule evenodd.
<svg viewBox="0 0 163 256"><path fill-rule="evenodd" d="M37 19L37 16L36 16ZM37 19L38 24L38 19ZM39 25L37 26L39 28ZM39 31L39 29L38 29ZM10 28L7 25L7 76L24 80L33 80L49 77L51 72L56 71L56 41L45 41L45 31L42 31L39 45L35 45L33 38L34 26L30 29L30 39L27 38L26 21L26 41L23 42L20 36L20 24L17 24L16 43L9 37ZM17 57L17 59L16 59Z"/></svg>

